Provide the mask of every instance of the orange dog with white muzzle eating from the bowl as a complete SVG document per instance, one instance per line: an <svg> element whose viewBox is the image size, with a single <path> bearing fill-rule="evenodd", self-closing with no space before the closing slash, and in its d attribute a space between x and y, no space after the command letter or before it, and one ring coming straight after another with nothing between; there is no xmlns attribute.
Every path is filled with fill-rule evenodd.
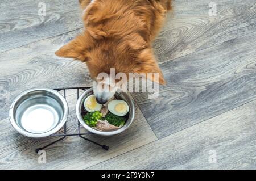
<svg viewBox="0 0 256 181"><path fill-rule="evenodd" d="M117 80L98 78L100 73L158 73L158 79L146 78L164 85L163 73L154 57L152 42L163 26L171 0L79 0L85 30L55 54L86 62L94 80L96 100L105 104L118 89ZM112 87L114 91L98 91Z"/></svg>

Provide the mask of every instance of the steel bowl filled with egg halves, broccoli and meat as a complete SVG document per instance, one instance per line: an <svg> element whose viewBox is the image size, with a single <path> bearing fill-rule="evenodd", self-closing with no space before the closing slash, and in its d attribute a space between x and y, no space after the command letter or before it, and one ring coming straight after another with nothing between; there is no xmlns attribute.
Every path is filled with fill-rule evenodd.
<svg viewBox="0 0 256 181"><path fill-rule="evenodd" d="M116 93L103 106L98 104L93 89L80 96L76 107L77 117L88 131L110 136L125 131L134 119L134 103L124 92Z"/></svg>

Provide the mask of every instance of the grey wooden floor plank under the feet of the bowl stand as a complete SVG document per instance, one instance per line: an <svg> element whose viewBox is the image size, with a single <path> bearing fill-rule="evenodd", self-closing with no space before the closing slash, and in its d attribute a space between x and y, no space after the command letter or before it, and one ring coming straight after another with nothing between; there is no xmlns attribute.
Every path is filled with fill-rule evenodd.
<svg viewBox="0 0 256 181"><path fill-rule="evenodd" d="M70 128L68 133L75 133L77 131L76 97L73 94L75 92L67 93L71 110L67 122ZM84 128L82 132L86 132ZM0 169L85 169L156 140L155 134L137 106L134 122L125 132L112 137L87 136L108 145L110 148L108 151L79 137L67 137L64 141L46 149L46 164L38 163L39 155L35 153L35 149L57 138L34 140L24 137L11 127L8 119L0 121L0 133Z"/></svg>

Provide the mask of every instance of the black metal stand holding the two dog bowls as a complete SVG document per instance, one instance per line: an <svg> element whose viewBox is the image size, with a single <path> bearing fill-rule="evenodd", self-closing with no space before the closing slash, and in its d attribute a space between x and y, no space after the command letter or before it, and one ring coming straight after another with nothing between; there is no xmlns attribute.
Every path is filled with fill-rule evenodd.
<svg viewBox="0 0 256 181"><path fill-rule="evenodd" d="M66 90L71 90L71 89L77 89L77 99L79 99L79 96L80 96L80 94L79 94L79 91L80 90L84 90L84 91L86 91L86 90L88 90L88 89L90 89L91 87L71 87L71 88L59 88L59 89L54 89L54 90L56 90L56 91L61 91L61 90L63 90L63 96L64 96L64 98L66 99ZM98 145L98 146L101 146L101 148L102 149L104 149L104 150L108 150L109 149L109 146L106 146L106 145L101 145L101 144L99 144L99 143L97 143L97 142L95 142L95 141L92 141L92 140L89 140L88 138L86 138L86 137L84 137L84 135L89 135L89 134L93 134L93 133L81 133L81 124L79 123L79 121L77 121L78 122L78 124L77 124L77 126L78 126L78 133L73 133L73 134L67 134L67 123L65 123L64 124L64 129L63 129L63 134L52 134L51 135L51 137L61 137L61 138L59 138L59 140L56 140L56 141L53 141L53 142L51 142L50 144L48 144L48 145L46 145L46 146L43 146L43 147L41 147L41 148L38 148L38 149L36 149L35 151L36 151L36 153L38 153L40 150L43 150L43 149L46 149L48 146L51 146L51 145L53 145L53 144L56 144L56 142L59 142L59 141L61 141L61 140L64 140L65 139L65 137L67 137L67 136L79 136L80 138L82 138L82 139L84 139L84 140L86 140L86 141L89 141L89 142L92 142L93 144L96 144L96 145Z"/></svg>

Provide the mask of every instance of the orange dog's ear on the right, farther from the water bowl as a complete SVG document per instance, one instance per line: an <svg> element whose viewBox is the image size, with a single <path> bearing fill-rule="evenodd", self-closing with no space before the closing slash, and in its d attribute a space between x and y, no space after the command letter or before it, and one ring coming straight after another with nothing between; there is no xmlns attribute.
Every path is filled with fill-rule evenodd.
<svg viewBox="0 0 256 181"><path fill-rule="evenodd" d="M163 73L156 62L151 49L144 49L141 54L139 54L137 61L135 62L137 64L134 69L135 73L145 73L147 79L161 85L166 85ZM152 76L148 76L148 73L152 73ZM158 79L154 76L154 73L158 73Z"/></svg>

